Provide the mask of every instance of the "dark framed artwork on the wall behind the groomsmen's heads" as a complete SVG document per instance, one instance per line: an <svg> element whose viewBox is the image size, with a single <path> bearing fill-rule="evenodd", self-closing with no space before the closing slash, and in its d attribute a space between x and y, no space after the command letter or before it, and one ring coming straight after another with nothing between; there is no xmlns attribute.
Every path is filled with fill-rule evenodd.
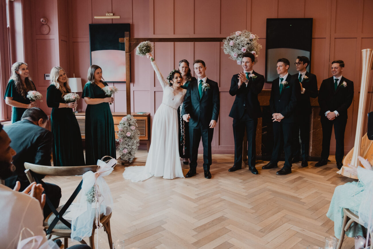
<svg viewBox="0 0 373 249"><path fill-rule="evenodd" d="M289 74L297 74L294 62L297 56L307 56L311 70L312 18L267 18L266 26L266 81L278 77L277 60L289 60Z"/></svg>

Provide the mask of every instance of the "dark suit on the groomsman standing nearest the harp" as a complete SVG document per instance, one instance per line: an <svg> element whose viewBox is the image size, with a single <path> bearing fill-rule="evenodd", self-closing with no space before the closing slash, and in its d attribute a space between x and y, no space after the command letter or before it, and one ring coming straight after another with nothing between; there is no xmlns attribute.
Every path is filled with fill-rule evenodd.
<svg viewBox="0 0 373 249"><path fill-rule="evenodd" d="M341 86L343 82L347 86ZM320 121L323 129L323 145L321 158L328 159L330 149L330 137L332 136L332 127L334 125L335 134L335 161L342 162L344 156L344 136L347 124L347 109L354 98L354 83L342 76L338 82L337 90L334 90L333 77L323 80L319 90ZM339 116L334 120L329 120L325 112L337 111Z"/></svg>

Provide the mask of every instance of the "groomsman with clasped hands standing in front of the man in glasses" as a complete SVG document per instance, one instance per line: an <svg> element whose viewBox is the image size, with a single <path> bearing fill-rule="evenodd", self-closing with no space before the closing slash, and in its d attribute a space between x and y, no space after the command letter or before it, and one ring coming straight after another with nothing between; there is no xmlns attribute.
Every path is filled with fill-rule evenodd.
<svg viewBox="0 0 373 249"><path fill-rule="evenodd" d="M291 147L292 134L296 120L295 108L301 92L298 78L288 73L290 62L288 59L277 60L277 74L280 77L272 82L271 96L269 99L270 110L273 119L273 152L271 161L262 169L277 168L280 155L280 144L283 139L285 162L283 168L276 172L278 175L291 173Z"/></svg>

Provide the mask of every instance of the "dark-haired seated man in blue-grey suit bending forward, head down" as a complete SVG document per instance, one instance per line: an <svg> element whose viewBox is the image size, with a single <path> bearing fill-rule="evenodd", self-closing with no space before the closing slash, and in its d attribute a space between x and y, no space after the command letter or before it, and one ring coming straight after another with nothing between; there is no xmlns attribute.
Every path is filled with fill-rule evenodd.
<svg viewBox="0 0 373 249"><path fill-rule="evenodd" d="M21 121L4 127L12 143L10 146L16 151L13 157L13 164L16 166L13 175L5 180L5 185L14 188L16 181L21 183L20 190L26 189L29 185L25 174L25 162L38 165L51 165L51 152L53 134L45 129L48 116L40 108L27 109ZM41 183L44 190L55 208L58 207L61 198L59 186L51 183ZM44 217L50 214L51 210L44 207Z"/></svg>

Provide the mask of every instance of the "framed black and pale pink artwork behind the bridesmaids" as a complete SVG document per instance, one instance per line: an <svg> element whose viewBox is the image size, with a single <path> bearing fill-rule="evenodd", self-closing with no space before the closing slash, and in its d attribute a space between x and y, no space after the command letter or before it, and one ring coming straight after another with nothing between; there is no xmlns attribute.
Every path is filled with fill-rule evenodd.
<svg viewBox="0 0 373 249"><path fill-rule="evenodd" d="M129 32L129 24L90 24L91 65L102 68L106 82L126 82L125 44L119 38Z"/></svg>

